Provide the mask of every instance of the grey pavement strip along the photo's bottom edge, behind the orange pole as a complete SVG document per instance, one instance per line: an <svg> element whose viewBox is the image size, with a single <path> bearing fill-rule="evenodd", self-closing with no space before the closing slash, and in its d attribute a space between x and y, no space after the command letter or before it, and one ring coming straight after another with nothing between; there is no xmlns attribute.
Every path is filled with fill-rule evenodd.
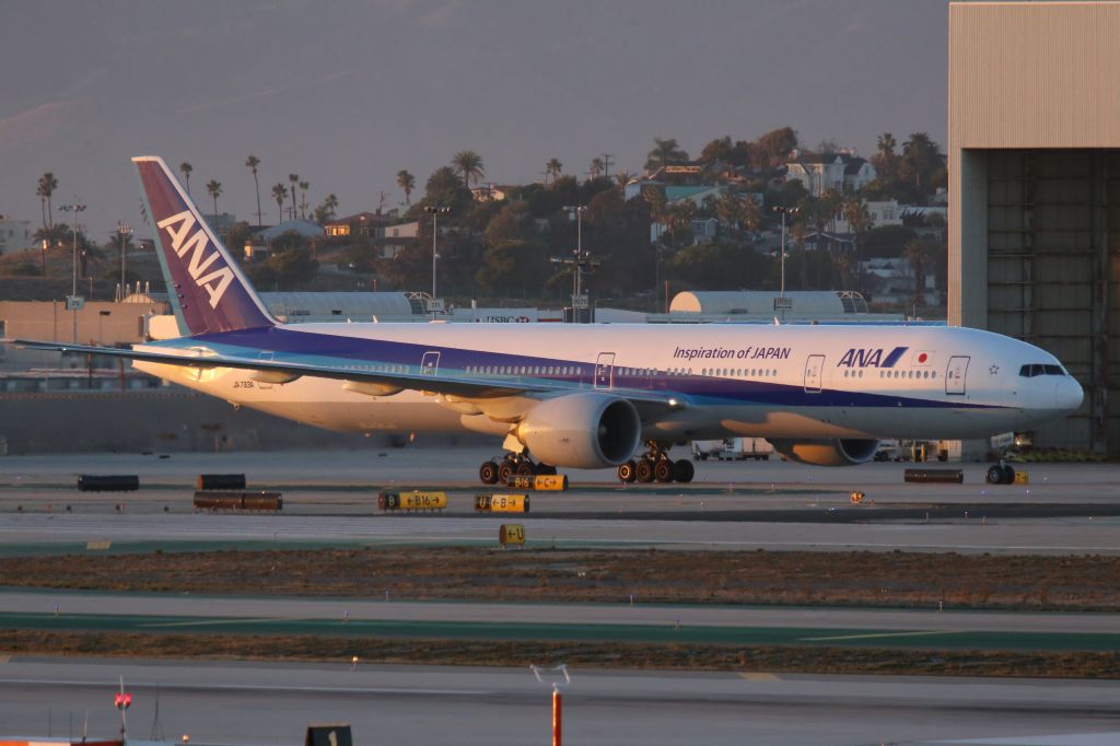
<svg viewBox="0 0 1120 746"><path fill-rule="evenodd" d="M302 743L309 722L348 722L355 744L548 743L550 688L525 668L69 661L0 663L3 735L112 736L112 696L133 694L134 738L195 745ZM550 663L535 661L535 663ZM964 678L571 671L571 744L1116 744L1120 683ZM157 698L158 687L158 698ZM156 702L158 701L158 718ZM1027 740L1030 738L1030 740Z"/></svg>

